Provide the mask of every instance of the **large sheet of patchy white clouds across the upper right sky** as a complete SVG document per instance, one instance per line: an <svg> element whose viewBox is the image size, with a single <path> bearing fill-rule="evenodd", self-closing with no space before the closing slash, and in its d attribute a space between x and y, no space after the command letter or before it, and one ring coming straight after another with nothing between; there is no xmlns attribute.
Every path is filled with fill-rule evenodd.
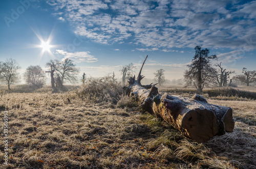
<svg viewBox="0 0 256 169"><path fill-rule="evenodd" d="M163 52L173 52L172 47L198 44L241 49L246 39L256 39L256 1L240 5L236 0L52 0L48 4L55 15L70 22L76 34L103 44L132 39L145 46L139 51L164 48ZM102 13L102 9L110 12Z"/></svg>

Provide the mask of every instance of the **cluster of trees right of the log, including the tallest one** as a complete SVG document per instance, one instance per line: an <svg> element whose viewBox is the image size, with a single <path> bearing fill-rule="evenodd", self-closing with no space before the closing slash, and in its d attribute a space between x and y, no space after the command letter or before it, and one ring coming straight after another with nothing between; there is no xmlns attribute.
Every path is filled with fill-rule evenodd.
<svg viewBox="0 0 256 169"><path fill-rule="evenodd" d="M216 55L209 55L208 49L202 49L202 45L195 47L195 56L184 72L184 81L187 86L195 86L198 93L202 93L204 87L209 86L232 86L232 80L240 81L249 86L256 81L256 71L249 71L243 68L244 75L237 75L230 79L234 71L227 70L220 63L213 67L211 60L217 60ZM217 68L216 68L217 67ZM229 83L228 83L229 81Z"/></svg>

